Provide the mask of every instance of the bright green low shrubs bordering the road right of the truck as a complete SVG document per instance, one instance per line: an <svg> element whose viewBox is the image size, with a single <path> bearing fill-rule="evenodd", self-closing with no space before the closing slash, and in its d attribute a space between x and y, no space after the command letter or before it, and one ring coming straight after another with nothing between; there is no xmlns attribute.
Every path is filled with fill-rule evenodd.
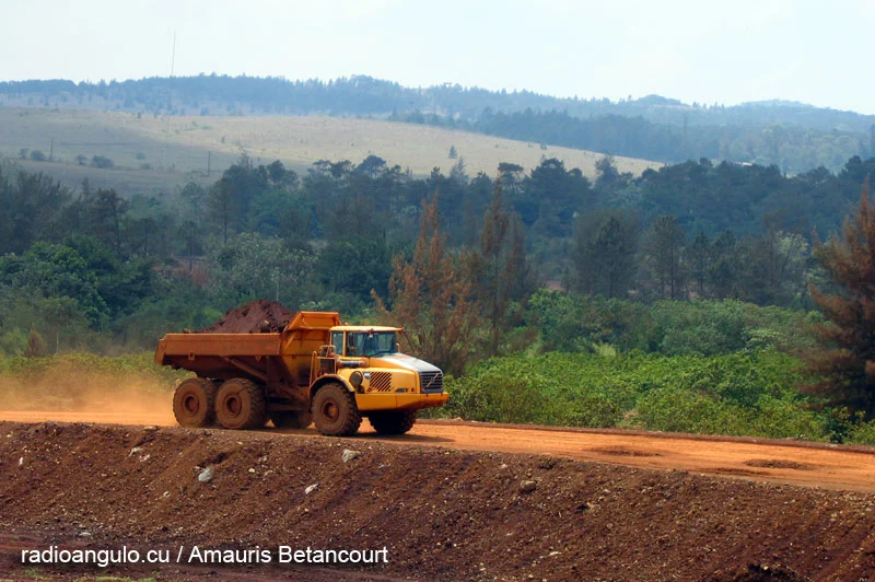
<svg viewBox="0 0 875 582"><path fill-rule="evenodd" d="M447 381L435 414L480 421L828 440L827 415L775 351L695 357L546 353L493 358Z"/></svg>

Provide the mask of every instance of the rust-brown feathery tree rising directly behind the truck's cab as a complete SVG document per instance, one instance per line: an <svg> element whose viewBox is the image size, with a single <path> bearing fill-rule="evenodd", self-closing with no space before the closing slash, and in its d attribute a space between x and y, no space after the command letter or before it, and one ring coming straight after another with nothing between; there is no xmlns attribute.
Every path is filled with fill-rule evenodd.
<svg viewBox="0 0 875 582"><path fill-rule="evenodd" d="M470 282L446 251L438 222L438 200L422 201L420 232L413 256L393 260L388 307L374 293L381 317L408 330L417 356L458 375L470 358L477 327Z"/></svg>

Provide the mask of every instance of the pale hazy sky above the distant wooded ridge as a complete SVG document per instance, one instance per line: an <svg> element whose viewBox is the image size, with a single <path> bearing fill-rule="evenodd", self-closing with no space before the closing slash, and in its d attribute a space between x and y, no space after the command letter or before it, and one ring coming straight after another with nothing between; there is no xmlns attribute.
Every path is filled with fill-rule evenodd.
<svg viewBox="0 0 875 582"><path fill-rule="evenodd" d="M875 114L875 0L0 0L0 80L366 74Z"/></svg>

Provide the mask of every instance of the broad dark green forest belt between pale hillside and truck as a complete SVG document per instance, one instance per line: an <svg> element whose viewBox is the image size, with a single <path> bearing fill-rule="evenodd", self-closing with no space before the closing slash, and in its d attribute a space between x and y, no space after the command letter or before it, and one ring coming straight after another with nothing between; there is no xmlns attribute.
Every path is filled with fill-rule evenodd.
<svg viewBox="0 0 875 582"><path fill-rule="evenodd" d="M806 282L819 276L813 231L838 229L873 166L853 158L838 175L789 178L703 160L633 178L606 158L591 182L555 159L529 174L503 163L495 178L470 177L459 159L448 174L421 179L375 155L320 161L304 176L243 158L208 188L124 199L7 165L1 348L22 351L32 329L51 349L150 346L257 298L368 316L372 292L398 309L417 277L451 267L480 284L444 301L463 298L467 317L489 322L471 353L447 357L457 362L530 344L532 293L548 283L630 304L698 298L807 309ZM424 218L444 257L418 251Z"/></svg>

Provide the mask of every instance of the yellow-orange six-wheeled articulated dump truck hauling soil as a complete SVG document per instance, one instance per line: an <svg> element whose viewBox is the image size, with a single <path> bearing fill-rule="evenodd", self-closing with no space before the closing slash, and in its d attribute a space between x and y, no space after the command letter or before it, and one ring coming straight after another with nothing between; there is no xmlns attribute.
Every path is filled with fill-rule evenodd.
<svg viewBox="0 0 875 582"><path fill-rule="evenodd" d="M299 312L279 333L167 334L155 363L190 370L173 397L183 427L278 428L354 434L368 418L404 434L423 408L443 406L440 369L398 350L396 327L341 325L332 312Z"/></svg>

